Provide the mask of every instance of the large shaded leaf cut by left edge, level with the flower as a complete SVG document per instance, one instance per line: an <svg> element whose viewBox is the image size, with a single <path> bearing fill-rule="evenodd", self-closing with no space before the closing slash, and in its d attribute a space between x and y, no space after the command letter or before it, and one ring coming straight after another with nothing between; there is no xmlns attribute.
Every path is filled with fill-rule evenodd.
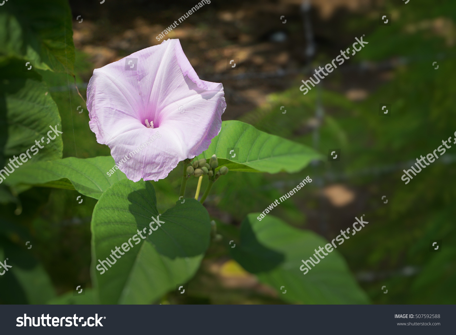
<svg viewBox="0 0 456 335"><path fill-rule="evenodd" d="M61 124L57 105L41 76L34 71L23 71L20 60L0 61L0 168L6 157L19 157L32 146L39 152L29 151L31 158L25 156L24 160L61 158L62 134L52 141L47 135L51 131L50 136L55 136L50 127L61 131ZM35 141L40 141L41 149Z"/></svg>

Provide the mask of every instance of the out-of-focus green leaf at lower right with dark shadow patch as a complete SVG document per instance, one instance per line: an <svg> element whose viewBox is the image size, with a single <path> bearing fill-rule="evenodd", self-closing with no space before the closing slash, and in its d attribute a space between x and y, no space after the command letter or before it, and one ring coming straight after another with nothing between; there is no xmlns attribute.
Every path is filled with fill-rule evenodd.
<svg viewBox="0 0 456 335"><path fill-rule="evenodd" d="M233 258L262 283L277 290L280 298L300 304L368 304L367 295L358 286L347 264L333 250L305 275L302 259L327 242L309 230L299 230L282 220L251 213L241 224L239 245L231 249ZM282 290L280 288L285 286ZM286 289L286 293L283 294Z"/></svg>

